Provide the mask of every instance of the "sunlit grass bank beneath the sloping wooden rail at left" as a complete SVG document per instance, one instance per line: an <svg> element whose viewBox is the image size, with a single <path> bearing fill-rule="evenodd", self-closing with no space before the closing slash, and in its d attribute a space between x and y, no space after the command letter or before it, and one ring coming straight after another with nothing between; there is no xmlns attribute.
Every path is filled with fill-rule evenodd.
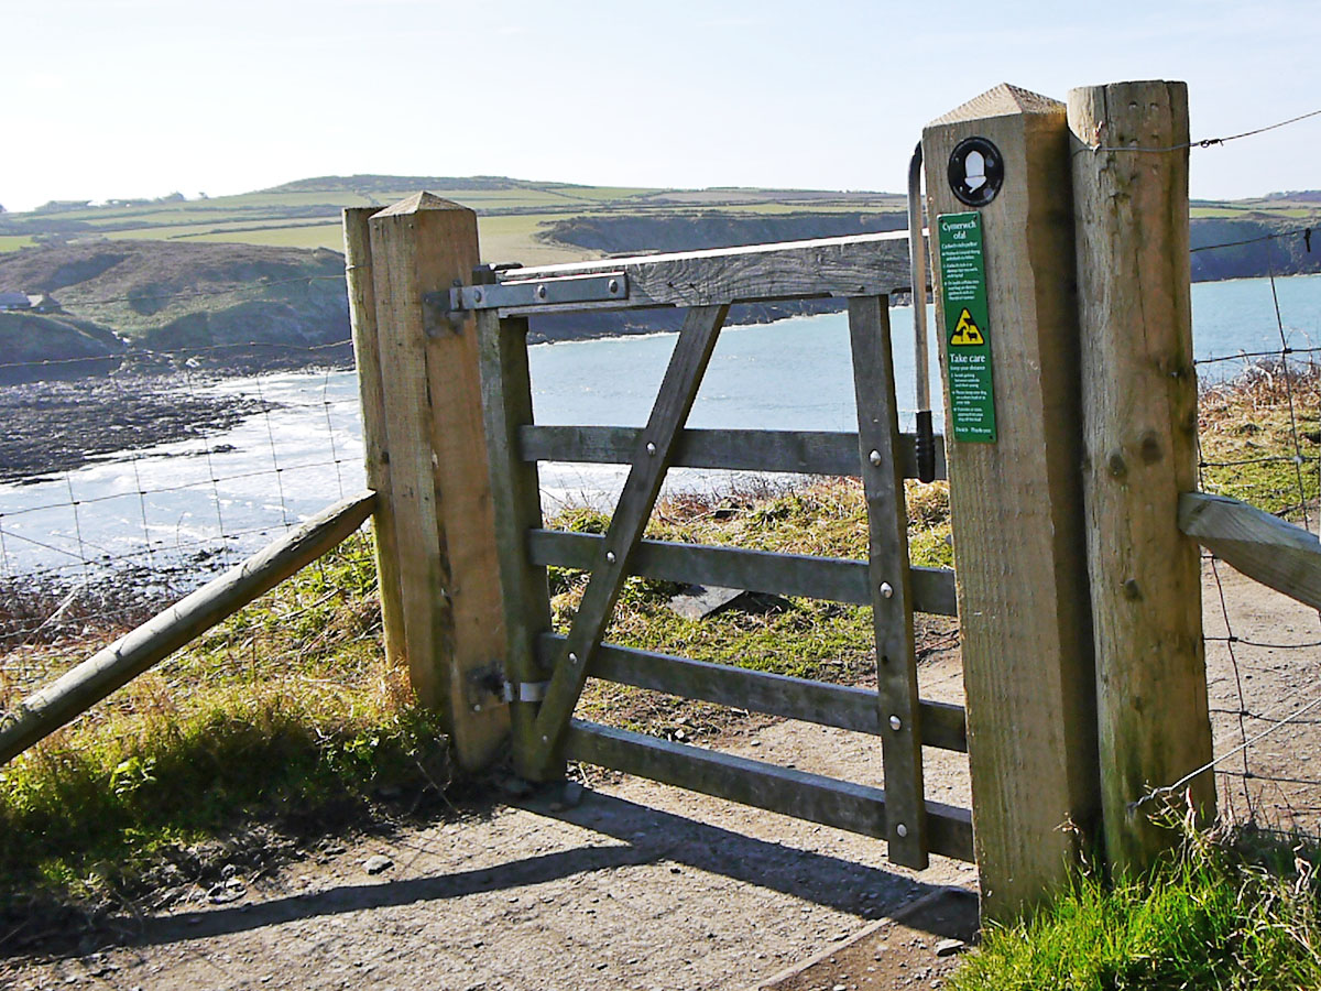
<svg viewBox="0 0 1321 991"><path fill-rule="evenodd" d="M0 770L0 889L132 891L244 819L318 832L382 789L444 786L435 717L384 667L367 551L353 538Z"/></svg>

